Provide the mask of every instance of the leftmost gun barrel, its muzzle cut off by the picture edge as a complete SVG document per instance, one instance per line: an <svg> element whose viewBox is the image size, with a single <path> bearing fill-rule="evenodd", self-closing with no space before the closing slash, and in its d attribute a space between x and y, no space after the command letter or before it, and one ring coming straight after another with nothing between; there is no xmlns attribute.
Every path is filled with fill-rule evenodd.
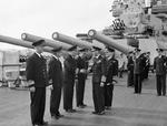
<svg viewBox="0 0 167 126"><path fill-rule="evenodd" d="M22 40L19 40L19 39L14 39L14 38L10 38L10 36L0 35L0 42L14 44L14 45L23 46L23 48L33 49L33 46L32 46L32 44L30 42L22 41ZM51 49L52 48L45 46L43 50L46 52L50 52Z"/></svg>

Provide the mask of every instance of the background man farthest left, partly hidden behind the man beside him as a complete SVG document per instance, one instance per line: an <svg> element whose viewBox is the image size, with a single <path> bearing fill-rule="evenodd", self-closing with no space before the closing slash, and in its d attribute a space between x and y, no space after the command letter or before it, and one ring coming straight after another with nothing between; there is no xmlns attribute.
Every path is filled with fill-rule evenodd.
<svg viewBox="0 0 167 126"><path fill-rule="evenodd" d="M127 80L127 86L134 86L134 52L130 51L128 54L128 80Z"/></svg>

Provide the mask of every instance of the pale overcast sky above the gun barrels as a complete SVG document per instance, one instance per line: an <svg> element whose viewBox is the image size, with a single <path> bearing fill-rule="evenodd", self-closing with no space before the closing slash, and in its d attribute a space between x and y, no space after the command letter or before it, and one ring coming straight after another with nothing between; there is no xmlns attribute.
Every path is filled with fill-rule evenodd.
<svg viewBox="0 0 167 126"><path fill-rule="evenodd" d="M0 34L20 39L28 32L51 39L52 32L75 36L111 23L112 0L3 0ZM1 48L7 48L2 45ZM9 48L9 45L8 45Z"/></svg>

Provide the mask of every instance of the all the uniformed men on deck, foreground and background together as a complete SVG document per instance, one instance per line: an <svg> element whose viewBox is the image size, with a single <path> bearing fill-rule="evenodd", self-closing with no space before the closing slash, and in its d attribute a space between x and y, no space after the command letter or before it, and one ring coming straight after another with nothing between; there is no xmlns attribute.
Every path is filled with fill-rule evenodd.
<svg viewBox="0 0 167 126"><path fill-rule="evenodd" d="M85 56L85 49L77 46L70 48L65 61L60 61L61 48L53 49L52 57L48 64L41 55L45 40L32 43L35 53L27 60L27 81L30 87L30 111L33 126L42 126L48 123L43 120L46 106L46 87L51 90L50 94L50 115L52 118L60 118L63 115L59 112L61 99L61 88L63 90L63 109L67 113L75 113L72 106L73 87L76 84L77 107L84 108L85 84L87 73L92 72L92 99L95 111L92 114L104 115L105 109L110 109L112 104L114 76L118 75L118 61L115 59L115 50L107 46L105 53L101 49L94 46L92 66L88 69L88 60ZM163 55L163 49L157 49L158 56L155 57L154 69L157 76L157 95L166 95L166 62L167 57ZM128 55L128 86L135 86L135 93L141 93L141 82L148 77L149 54L141 54L139 49L129 52ZM145 73L145 74L144 74ZM77 80L77 83L76 83Z"/></svg>

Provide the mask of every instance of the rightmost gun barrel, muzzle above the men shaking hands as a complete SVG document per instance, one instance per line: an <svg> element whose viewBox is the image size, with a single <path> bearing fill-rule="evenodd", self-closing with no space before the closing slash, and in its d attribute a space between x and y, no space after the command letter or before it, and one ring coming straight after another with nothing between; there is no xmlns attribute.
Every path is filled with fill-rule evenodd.
<svg viewBox="0 0 167 126"><path fill-rule="evenodd" d="M111 39L111 38L109 38L107 35L104 35L101 33L98 33L96 30L89 30L88 31L88 35L91 36L92 39L98 40L99 42L101 42L101 43L104 43L106 45L109 45L109 46L111 46L111 48L114 48L114 49L125 53L125 54L128 54L129 51L131 51L131 50L129 50L129 49L127 49L127 48L125 48L122 45L119 45L116 42L116 40L114 40L114 39Z"/></svg>

